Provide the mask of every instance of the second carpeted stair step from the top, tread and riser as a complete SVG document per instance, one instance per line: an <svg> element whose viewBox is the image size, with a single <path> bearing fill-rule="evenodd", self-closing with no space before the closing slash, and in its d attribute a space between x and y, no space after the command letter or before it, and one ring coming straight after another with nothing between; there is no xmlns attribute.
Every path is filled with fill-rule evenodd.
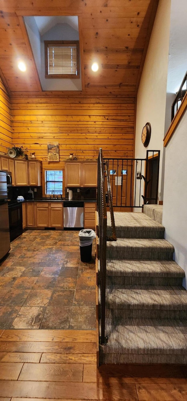
<svg viewBox="0 0 187 401"><path fill-rule="evenodd" d="M107 241L107 259L173 259L174 247L165 239L120 238Z"/></svg>

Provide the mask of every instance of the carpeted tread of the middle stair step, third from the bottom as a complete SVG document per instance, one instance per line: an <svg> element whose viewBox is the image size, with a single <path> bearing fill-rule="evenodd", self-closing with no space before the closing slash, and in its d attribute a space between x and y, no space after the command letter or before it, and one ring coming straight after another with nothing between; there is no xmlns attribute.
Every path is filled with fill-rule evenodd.
<svg viewBox="0 0 187 401"><path fill-rule="evenodd" d="M107 276L185 277L173 260L107 260Z"/></svg>

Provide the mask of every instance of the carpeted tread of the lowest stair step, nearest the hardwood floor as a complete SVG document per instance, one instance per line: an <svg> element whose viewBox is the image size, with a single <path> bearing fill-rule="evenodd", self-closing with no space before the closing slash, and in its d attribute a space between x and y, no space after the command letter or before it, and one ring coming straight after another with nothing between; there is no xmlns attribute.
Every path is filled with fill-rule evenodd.
<svg viewBox="0 0 187 401"><path fill-rule="evenodd" d="M187 353L187 320L127 319L125 326L111 326L106 319L106 334L104 353Z"/></svg>

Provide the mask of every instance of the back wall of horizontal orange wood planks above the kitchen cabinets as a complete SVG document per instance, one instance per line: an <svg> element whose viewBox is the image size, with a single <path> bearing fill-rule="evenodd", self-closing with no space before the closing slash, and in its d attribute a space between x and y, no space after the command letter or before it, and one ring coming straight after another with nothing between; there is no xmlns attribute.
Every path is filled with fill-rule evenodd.
<svg viewBox="0 0 187 401"><path fill-rule="evenodd" d="M35 152L43 167L79 159L133 157L135 98L42 97L11 100L12 140ZM47 142L59 142L60 162L47 162Z"/></svg>

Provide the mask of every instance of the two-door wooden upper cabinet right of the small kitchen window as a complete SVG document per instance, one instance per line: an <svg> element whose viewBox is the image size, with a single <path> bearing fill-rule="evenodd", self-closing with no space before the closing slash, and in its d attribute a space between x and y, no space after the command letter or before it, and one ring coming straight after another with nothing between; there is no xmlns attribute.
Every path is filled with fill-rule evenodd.
<svg viewBox="0 0 187 401"><path fill-rule="evenodd" d="M66 162L67 186L97 186L97 162Z"/></svg>

